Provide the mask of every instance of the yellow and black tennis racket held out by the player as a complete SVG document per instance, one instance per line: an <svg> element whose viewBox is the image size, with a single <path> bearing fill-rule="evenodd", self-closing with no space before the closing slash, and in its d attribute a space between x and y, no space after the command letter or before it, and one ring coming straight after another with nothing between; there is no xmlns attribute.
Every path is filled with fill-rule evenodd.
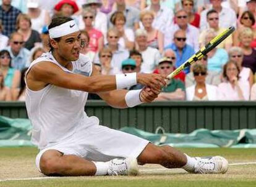
<svg viewBox="0 0 256 187"><path fill-rule="evenodd" d="M223 33L220 33L218 36L213 38L208 44L206 44L202 49L198 50L192 57L190 57L186 62L182 63L176 70L174 70L171 74L168 75L168 78L171 79L176 74L180 73L184 68L192 65L192 63L196 62L203 58L210 50L218 46L224 39L226 39L233 31L235 30L234 26L229 27L228 29L224 30Z"/></svg>

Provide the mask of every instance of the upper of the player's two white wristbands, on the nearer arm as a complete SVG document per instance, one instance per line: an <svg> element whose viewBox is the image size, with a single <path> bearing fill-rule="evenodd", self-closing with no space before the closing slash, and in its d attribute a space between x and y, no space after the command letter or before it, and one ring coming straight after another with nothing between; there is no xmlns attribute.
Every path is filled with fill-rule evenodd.
<svg viewBox="0 0 256 187"><path fill-rule="evenodd" d="M116 74L116 89L125 89L137 84L137 73Z"/></svg>

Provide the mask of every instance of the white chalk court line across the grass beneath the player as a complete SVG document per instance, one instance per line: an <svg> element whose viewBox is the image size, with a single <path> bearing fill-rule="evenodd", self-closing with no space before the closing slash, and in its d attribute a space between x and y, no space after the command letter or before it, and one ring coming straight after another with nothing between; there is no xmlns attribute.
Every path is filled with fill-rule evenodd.
<svg viewBox="0 0 256 187"><path fill-rule="evenodd" d="M256 162L240 162L240 163L233 163L233 164L229 164L230 166L233 165L252 165L252 164L256 164ZM165 171L165 170L169 170L167 168L163 168L163 169L140 169L140 172L155 172L155 171ZM7 178L4 180L0 180L0 182L4 182L4 181L17 181L17 180L45 180L45 179L52 179L52 178L61 178L61 177L31 177L31 178Z"/></svg>

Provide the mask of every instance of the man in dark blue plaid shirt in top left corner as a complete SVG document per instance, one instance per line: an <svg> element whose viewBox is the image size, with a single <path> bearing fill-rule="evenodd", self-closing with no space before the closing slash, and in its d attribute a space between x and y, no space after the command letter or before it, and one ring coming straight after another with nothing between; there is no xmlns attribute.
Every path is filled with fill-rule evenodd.
<svg viewBox="0 0 256 187"><path fill-rule="evenodd" d="M20 13L20 10L11 6L10 0L2 0L2 6L0 6L0 20L4 25L2 34L9 37L15 31L16 19Z"/></svg>

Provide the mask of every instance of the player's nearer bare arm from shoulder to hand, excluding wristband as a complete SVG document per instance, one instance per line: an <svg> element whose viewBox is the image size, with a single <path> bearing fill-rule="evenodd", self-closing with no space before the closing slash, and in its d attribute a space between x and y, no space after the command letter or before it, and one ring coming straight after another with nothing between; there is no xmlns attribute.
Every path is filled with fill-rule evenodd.
<svg viewBox="0 0 256 187"><path fill-rule="evenodd" d="M160 89L160 85L165 84L164 78L157 74L153 76L138 74L137 82L146 84L154 90ZM96 75L92 78L80 74L66 73L59 66L50 62L40 62L28 72L27 84L32 90L40 90L48 84L53 84L66 89L95 93L115 90L116 76Z"/></svg>

